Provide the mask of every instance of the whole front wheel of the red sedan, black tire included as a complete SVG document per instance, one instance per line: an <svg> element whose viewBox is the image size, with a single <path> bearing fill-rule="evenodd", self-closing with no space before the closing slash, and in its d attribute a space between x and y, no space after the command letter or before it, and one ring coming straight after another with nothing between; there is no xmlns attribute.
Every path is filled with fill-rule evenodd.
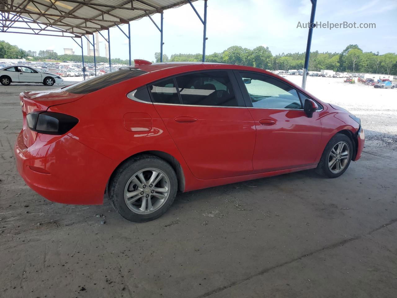
<svg viewBox="0 0 397 298"><path fill-rule="evenodd" d="M343 145L343 147L341 152L338 153L339 144ZM345 153L346 148L348 149L347 154ZM335 134L326 145L320 162L317 165L316 172L328 178L337 178L341 176L349 167L353 156L353 150L352 141L347 135ZM335 155L333 152L337 153L336 158L332 157L331 151L332 155ZM333 163L334 160L336 160L335 163ZM339 165L338 161L340 161ZM329 163L333 163L331 164L332 166L329 166ZM342 169L340 170L340 168Z"/></svg>

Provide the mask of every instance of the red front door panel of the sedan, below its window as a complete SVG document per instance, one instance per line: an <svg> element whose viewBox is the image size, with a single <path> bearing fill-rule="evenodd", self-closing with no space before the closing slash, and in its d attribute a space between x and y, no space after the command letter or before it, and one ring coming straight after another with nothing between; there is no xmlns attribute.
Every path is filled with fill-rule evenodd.
<svg viewBox="0 0 397 298"><path fill-rule="evenodd" d="M270 172L315 163L321 140L318 112L249 108L256 125L254 172Z"/></svg>

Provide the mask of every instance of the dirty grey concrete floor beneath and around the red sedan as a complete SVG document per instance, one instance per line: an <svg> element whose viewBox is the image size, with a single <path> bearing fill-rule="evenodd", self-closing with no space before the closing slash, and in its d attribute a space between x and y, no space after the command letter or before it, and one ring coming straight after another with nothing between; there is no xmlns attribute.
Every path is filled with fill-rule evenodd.
<svg viewBox="0 0 397 298"><path fill-rule="evenodd" d="M0 86L0 297L397 296L395 135L368 132L339 178L309 170L179 194L137 224L108 199L52 203L19 177L17 94L46 88Z"/></svg>

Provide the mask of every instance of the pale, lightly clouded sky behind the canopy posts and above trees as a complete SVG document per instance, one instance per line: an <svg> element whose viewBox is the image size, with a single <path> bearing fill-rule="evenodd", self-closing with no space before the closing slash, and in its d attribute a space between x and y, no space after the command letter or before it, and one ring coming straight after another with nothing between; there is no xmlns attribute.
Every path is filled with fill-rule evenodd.
<svg viewBox="0 0 397 298"><path fill-rule="evenodd" d="M203 15L204 1L193 2ZM268 46L272 54L304 52L308 29L297 28L298 22L310 19L310 0L208 0L206 54L222 52L229 46L246 48ZM153 19L160 25L160 15ZM364 52L397 52L397 1L366 0L349 2L318 0L315 21L341 23L375 23L376 29L313 30L311 51L341 52L349 44L357 44ZM121 28L128 32L127 25ZM104 31L105 34L106 31ZM202 52L203 26L189 4L164 12L164 54ZM24 50L81 49L70 38L0 33L0 40ZM128 59L128 40L119 29L110 29L112 58ZM84 51L87 42L83 39ZM154 60L160 52L160 32L148 17L131 22L132 59ZM100 56L105 56L100 37Z"/></svg>

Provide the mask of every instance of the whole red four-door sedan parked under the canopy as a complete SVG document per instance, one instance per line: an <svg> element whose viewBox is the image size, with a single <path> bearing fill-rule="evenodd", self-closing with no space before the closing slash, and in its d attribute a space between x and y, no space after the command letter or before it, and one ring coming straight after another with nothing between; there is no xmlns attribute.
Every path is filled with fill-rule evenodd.
<svg viewBox="0 0 397 298"><path fill-rule="evenodd" d="M135 66L20 94L15 144L27 185L59 203L150 221L187 192L316 168L335 178L364 146L360 119L265 70Z"/></svg>

